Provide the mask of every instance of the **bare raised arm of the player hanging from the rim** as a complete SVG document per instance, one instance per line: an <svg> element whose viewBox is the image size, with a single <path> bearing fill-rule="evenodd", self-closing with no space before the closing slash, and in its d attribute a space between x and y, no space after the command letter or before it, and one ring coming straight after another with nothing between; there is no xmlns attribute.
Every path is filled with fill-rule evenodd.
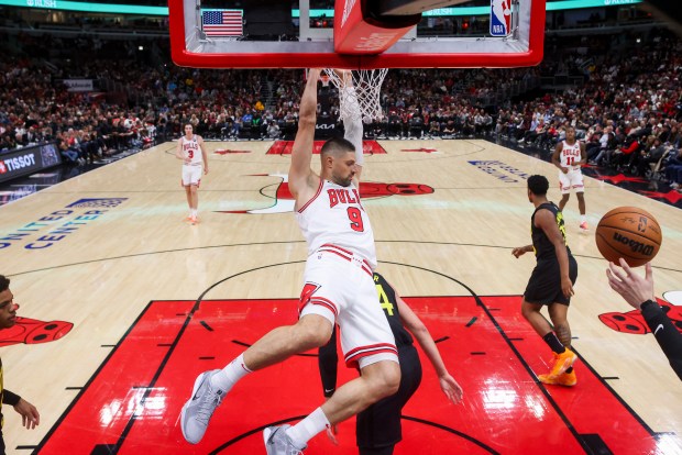
<svg viewBox="0 0 682 455"><path fill-rule="evenodd" d="M298 111L298 131L292 148L292 165L289 166L289 190L297 203L306 198L310 189L317 190L319 178L312 173L312 145L315 140L315 123L317 122L317 82L320 69L311 68L300 99ZM312 197L312 196L310 196Z"/></svg>

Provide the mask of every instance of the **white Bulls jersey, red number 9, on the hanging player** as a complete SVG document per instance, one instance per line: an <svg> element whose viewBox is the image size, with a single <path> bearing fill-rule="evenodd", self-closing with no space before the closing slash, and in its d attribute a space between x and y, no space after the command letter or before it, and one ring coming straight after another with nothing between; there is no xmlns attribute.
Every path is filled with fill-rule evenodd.
<svg viewBox="0 0 682 455"><path fill-rule="evenodd" d="M321 179L315 197L296 212L308 254L332 244L359 254L376 268L376 248L370 217L355 185L348 187Z"/></svg>

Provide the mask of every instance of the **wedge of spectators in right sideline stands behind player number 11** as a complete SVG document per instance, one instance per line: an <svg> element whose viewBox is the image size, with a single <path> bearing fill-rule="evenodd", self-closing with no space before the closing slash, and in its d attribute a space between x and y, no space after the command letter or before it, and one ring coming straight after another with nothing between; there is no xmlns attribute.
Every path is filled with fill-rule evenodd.
<svg viewBox="0 0 682 455"><path fill-rule="evenodd" d="M570 124L585 142L591 165L662 178L678 188L681 45L671 36L654 43L626 59L605 58L582 87L501 109L496 133L552 151Z"/></svg>

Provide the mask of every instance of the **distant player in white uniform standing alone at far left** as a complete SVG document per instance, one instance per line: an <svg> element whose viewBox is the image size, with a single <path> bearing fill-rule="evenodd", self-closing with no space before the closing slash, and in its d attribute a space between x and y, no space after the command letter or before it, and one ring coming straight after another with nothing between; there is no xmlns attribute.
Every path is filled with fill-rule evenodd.
<svg viewBox="0 0 682 455"><path fill-rule="evenodd" d="M199 185L201 184L201 170L208 174L208 156L204 147L204 138L194 134L190 123L185 125L185 135L177 142L175 157L183 160L183 187L187 195L189 215L187 221L196 224L199 211Z"/></svg>

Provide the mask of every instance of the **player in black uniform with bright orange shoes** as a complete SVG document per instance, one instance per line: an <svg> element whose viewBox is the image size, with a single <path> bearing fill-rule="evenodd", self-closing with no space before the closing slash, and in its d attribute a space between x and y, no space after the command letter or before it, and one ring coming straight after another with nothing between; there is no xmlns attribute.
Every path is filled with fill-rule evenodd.
<svg viewBox="0 0 682 455"><path fill-rule="evenodd" d="M571 326L568 313L573 284L578 278L578 263L566 245L563 215L553 202L547 200L549 181L544 176L528 177L528 200L536 207L530 218L532 244L512 249L515 257L535 252L537 265L524 292L521 313L554 354L554 365L538 379L544 384L574 386L573 362L578 356L570 349ZM540 313L547 306L554 332Z"/></svg>

